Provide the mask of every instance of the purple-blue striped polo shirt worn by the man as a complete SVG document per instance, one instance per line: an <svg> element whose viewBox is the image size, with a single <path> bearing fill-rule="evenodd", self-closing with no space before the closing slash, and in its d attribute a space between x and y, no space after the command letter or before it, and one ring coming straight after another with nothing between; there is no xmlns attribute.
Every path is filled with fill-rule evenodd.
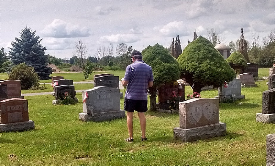
<svg viewBox="0 0 275 166"><path fill-rule="evenodd" d="M126 67L125 81L129 81L125 98L133 100L147 100L149 81L153 81L152 67L143 60L136 60Z"/></svg>

